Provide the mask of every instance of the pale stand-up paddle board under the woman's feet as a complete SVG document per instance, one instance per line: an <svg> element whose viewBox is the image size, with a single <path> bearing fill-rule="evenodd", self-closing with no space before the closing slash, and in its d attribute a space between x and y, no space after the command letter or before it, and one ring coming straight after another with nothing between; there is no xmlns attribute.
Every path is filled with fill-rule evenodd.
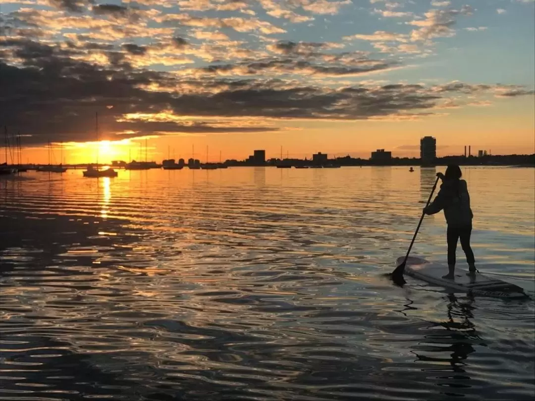
<svg viewBox="0 0 535 401"><path fill-rule="evenodd" d="M403 259L403 256L399 257L396 260L396 266L403 263ZM455 268L455 280L442 279L442 276L447 273L448 266L414 256L409 256L405 266L405 274L428 283L438 284L441 287L452 288L461 292L472 292L483 296L501 298L527 297L521 287L502 280L491 279L491 277L480 273L468 276L468 271Z"/></svg>

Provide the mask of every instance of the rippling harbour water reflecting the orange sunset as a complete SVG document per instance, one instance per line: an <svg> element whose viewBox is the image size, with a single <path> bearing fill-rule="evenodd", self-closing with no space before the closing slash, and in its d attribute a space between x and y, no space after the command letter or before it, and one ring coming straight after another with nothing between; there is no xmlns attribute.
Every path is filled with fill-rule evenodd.
<svg viewBox="0 0 535 401"><path fill-rule="evenodd" d="M0 399L532 399L532 300L381 276L438 171L407 170L0 179ZM533 297L534 169L463 171L480 271ZM445 261L442 214L413 249Z"/></svg>

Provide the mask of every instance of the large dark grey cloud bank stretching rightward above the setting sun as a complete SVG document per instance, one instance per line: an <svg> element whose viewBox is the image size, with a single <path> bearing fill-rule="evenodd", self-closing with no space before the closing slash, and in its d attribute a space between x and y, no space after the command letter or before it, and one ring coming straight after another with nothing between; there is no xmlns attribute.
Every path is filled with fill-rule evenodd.
<svg viewBox="0 0 535 401"><path fill-rule="evenodd" d="M94 114L101 115L103 135L128 131L127 136L148 133L262 132L271 127L236 126L201 122L149 122L125 120L135 113L172 111L176 115L196 115L210 121L232 117L276 119L336 119L403 117L433 114L435 106L447 99L454 86L425 87L417 84L350 86L330 88L312 84L288 84L263 77L224 78L212 74L202 79L181 78L172 73L136 70L123 63L124 53L108 52L113 64L103 67L69 56L79 49L59 49L32 41L4 41L7 48L25 59L25 66L0 61L0 110L4 124L32 134L31 141L45 143L49 138L86 141L93 137ZM87 46L91 47L88 43ZM51 50L52 49L52 50ZM142 57L142 56L140 56ZM272 60L273 61L273 60ZM295 60L260 61L242 67L265 72L276 66L313 68L320 72L345 73L333 68L300 64ZM211 66L212 71L232 71L233 64ZM323 68L323 70L322 70ZM356 67L347 67L356 68ZM207 71L207 70L204 70ZM149 86L162 90L148 90ZM456 91L468 90L456 83ZM480 87L479 87L480 88ZM503 87L499 87L503 88ZM516 88L516 87L515 87ZM490 87L491 91L496 88ZM480 88L480 90L482 90ZM503 92L503 90L502 90ZM510 90L509 90L510 92ZM523 94L516 88L506 96ZM524 93L532 93L524 89ZM113 106L108 109L106 106ZM125 137L118 135L116 137Z"/></svg>

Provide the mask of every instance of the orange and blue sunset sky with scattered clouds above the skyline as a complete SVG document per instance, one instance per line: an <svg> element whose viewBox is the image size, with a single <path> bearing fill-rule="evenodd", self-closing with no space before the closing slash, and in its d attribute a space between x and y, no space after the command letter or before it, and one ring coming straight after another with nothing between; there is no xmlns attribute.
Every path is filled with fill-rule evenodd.
<svg viewBox="0 0 535 401"><path fill-rule="evenodd" d="M535 152L533 0L0 0L23 161ZM3 145L3 129L2 129ZM64 150L59 150L63 143ZM4 152L0 163L4 161ZM10 160L8 160L10 161Z"/></svg>

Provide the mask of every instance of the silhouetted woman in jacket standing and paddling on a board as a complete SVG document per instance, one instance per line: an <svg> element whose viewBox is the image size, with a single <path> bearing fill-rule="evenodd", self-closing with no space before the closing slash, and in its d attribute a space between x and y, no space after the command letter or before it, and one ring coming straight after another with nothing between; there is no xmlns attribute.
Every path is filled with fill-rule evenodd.
<svg viewBox="0 0 535 401"><path fill-rule="evenodd" d="M469 275L475 275L477 270L472 248L470 247L470 234L472 233L472 210L470 209L470 195L468 194L467 182L461 180L461 169L457 165L449 165L446 174L437 173L442 179L442 185L437 197L425 207L425 214L435 214L444 210L444 217L448 225L448 268L449 273L444 279L455 278L455 252L457 241L461 240L461 246L467 257Z"/></svg>

